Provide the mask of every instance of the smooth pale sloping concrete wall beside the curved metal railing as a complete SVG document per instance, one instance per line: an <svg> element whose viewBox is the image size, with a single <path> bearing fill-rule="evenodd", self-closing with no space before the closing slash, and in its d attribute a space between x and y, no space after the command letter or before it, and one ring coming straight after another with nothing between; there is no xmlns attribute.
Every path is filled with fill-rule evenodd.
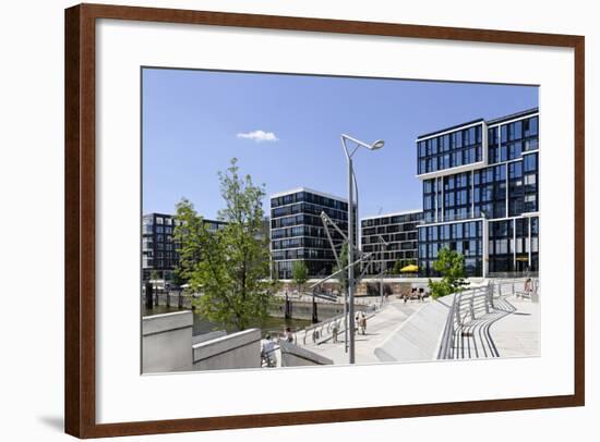
<svg viewBox="0 0 600 442"><path fill-rule="evenodd" d="M435 359L453 298L428 303L374 349L375 356L384 363Z"/></svg>

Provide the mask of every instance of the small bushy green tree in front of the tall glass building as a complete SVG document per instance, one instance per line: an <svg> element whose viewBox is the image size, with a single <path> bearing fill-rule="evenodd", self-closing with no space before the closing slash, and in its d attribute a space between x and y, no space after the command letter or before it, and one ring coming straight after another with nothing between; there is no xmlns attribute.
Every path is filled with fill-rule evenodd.
<svg viewBox="0 0 600 442"><path fill-rule="evenodd" d="M442 275L441 281L429 280L431 296L436 299L453 293L458 293L467 285L465 281L465 257L463 254L447 247L439 251L433 269Z"/></svg>

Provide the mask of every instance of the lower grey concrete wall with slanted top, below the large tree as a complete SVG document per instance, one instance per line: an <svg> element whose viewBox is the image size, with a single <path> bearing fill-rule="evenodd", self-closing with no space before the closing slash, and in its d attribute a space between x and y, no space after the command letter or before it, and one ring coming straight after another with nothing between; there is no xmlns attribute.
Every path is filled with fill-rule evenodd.
<svg viewBox="0 0 600 442"><path fill-rule="evenodd" d="M261 330L249 329L192 346L192 370L261 367Z"/></svg>

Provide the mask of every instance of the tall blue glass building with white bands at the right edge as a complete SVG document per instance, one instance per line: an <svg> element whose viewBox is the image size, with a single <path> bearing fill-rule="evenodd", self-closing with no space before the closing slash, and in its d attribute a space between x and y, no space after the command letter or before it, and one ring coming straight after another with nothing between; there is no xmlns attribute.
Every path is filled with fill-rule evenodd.
<svg viewBox="0 0 600 442"><path fill-rule="evenodd" d="M421 275L435 275L443 247L465 256L469 275L538 271L539 151L538 109L417 138Z"/></svg>

